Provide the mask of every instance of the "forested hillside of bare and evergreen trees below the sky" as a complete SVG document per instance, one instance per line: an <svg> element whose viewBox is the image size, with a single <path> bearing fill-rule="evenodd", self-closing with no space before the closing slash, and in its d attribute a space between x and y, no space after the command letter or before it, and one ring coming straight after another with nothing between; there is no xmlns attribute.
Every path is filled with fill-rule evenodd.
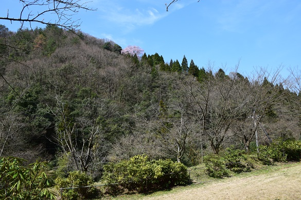
<svg viewBox="0 0 301 200"><path fill-rule="evenodd" d="M230 146L300 138L297 85L277 72L121 54L112 41L56 26L1 26L0 42L0 157L97 179L105 163L138 154L191 166Z"/></svg>

